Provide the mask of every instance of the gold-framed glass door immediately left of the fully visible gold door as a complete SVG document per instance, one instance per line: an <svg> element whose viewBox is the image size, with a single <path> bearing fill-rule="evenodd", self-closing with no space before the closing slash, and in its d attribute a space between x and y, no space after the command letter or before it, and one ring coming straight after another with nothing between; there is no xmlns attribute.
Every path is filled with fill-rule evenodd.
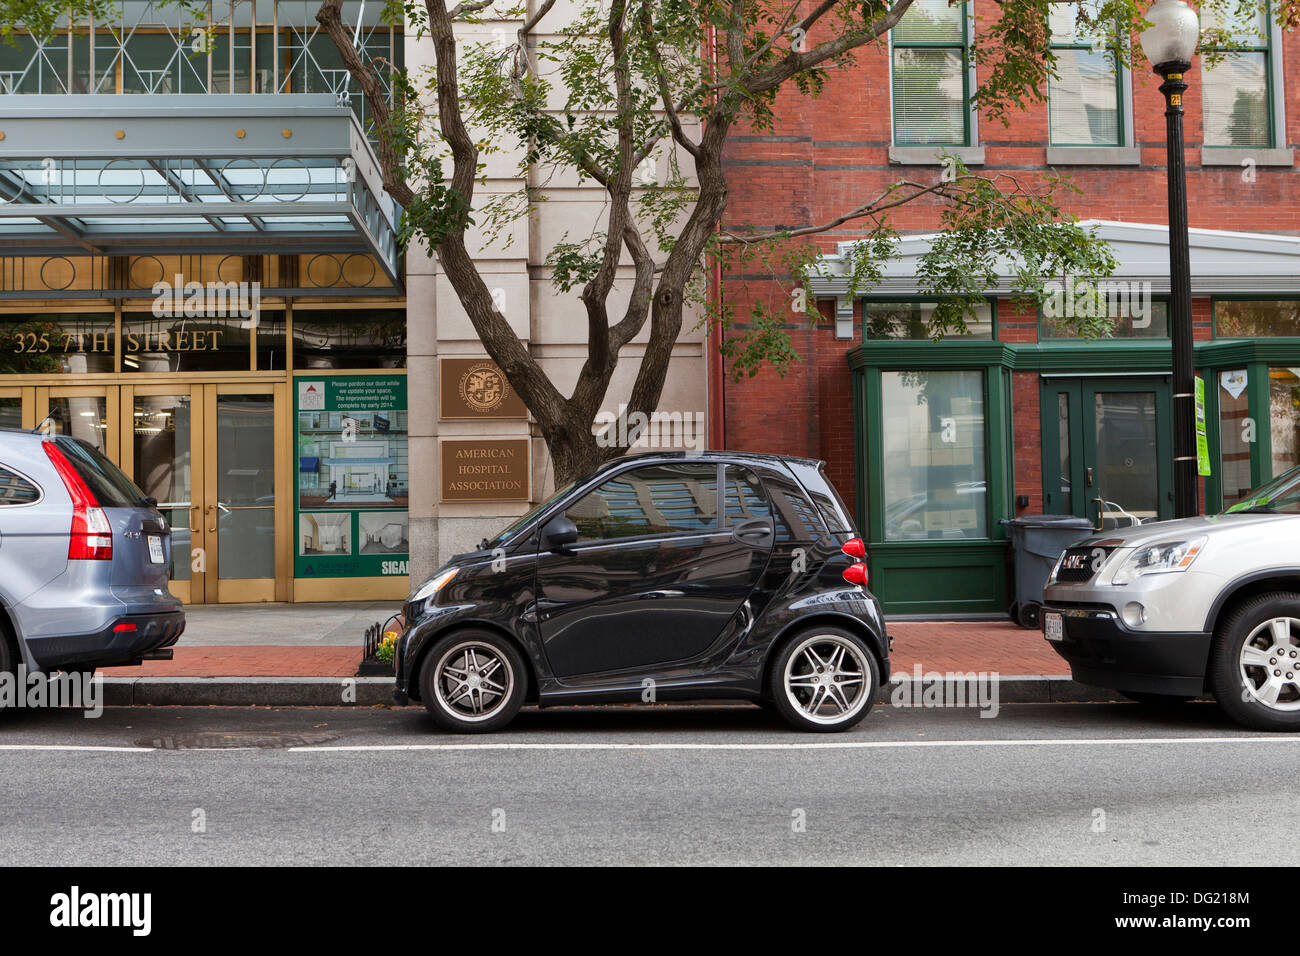
<svg viewBox="0 0 1300 956"><path fill-rule="evenodd" d="M185 604L204 600L202 416L202 385L122 386L122 471L172 525L169 587Z"/></svg>

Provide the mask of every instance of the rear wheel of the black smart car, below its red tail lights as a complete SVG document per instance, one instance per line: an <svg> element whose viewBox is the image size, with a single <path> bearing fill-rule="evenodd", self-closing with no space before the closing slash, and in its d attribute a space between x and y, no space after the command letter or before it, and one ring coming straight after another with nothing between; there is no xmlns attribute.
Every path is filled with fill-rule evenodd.
<svg viewBox="0 0 1300 956"><path fill-rule="evenodd" d="M800 730L848 730L871 710L880 685L875 656L837 627L796 635L772 665L768 691L776 710Z"/></svg>

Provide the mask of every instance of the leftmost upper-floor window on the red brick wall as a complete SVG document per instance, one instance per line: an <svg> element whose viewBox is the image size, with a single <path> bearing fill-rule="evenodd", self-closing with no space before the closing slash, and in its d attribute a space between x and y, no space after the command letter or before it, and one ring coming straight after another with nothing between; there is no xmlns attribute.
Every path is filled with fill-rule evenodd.
<svg viewBox="0 0 1300 956"><path fill-rule="evenodd" d="M890 43L894 144L968 146L966 4L914 0Z"/></svg>

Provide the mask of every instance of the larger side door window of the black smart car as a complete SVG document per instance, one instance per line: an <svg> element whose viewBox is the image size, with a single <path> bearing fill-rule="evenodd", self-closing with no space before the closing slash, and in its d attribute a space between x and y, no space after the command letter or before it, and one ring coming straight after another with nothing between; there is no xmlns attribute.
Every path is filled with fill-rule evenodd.
<svg viewBox="0 0 1300 956"><path fill-rule="evenodd" d="M578 541L718 527L718 466L647 464L625 471L568 506Z"/></svg>

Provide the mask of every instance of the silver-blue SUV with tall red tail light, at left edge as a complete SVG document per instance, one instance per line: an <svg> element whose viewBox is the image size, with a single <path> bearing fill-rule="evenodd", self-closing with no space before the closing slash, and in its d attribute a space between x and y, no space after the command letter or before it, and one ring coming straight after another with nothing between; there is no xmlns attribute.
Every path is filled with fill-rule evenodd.
<svg viewBox="0 0 1300 956"><path fill-rule="evenodd" d="M170 657L170 529L92 445L0 431L0 672Z"/></svg>

